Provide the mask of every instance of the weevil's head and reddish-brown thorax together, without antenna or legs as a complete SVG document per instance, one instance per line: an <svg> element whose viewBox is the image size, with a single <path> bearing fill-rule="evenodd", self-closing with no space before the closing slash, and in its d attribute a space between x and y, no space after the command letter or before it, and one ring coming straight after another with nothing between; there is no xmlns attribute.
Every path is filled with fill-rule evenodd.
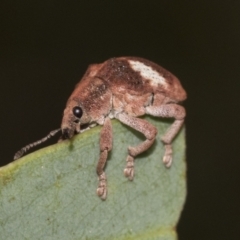
<svg viewBox="0 0 240 240"><path fill-rule="evenodd" d="M85 76L64 110L61 125L63 138L71 138L75 132L80 132L82 125L102 124L111 110L111 99L107 83L97 77Z"/></svg>

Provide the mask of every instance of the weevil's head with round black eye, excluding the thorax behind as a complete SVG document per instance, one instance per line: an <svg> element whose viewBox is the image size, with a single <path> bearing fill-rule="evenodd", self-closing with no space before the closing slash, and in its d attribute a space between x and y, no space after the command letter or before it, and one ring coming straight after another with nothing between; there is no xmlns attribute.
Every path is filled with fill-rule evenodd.
<svg viewBox="0 0 240 240"><path fill-rule="evenodd" d="M80 132L81 125L87 124L91 118L86 113L84 107L74 99L67 102L62 119L62 136L63 139L72 138L74 133Z"/></svg>

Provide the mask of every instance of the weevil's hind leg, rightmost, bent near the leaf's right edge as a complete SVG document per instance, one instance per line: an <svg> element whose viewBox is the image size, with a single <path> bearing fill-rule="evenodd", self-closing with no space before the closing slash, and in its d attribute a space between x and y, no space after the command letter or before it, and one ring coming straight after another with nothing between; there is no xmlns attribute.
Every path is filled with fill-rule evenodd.
<svg viewBox="0 0 240 240"><path fill-rule="evenodd" d="M146 107L146 114L157 117L175 118L175 121L167 130L165 135L161 138L165 146L165 153L163 156L163 162L166 167L170 167L172 164L172 140L179 132L184 123L186 112L184 107L169 103L161 106L148 106Z"/></svg>

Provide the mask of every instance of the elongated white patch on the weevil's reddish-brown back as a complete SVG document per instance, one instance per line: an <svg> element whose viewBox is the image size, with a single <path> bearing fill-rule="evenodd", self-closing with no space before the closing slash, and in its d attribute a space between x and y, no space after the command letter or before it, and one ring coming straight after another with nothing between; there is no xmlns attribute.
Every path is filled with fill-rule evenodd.
<svg viewBox="0 0 240 240"><path fill-rule="evenodd" d="M158 86L158 84L166 85L166 79L161 76L157 71L153 70L151 67L146 66L144 63L139 61L128 60L131 67L141 74L142 77L149 79L151 84Z"/></svg>

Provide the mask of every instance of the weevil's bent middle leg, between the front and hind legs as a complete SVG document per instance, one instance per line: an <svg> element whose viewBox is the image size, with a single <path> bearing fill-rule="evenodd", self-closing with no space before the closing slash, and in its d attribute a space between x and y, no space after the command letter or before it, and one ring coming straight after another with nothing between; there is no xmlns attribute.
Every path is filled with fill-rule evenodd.
<svg viewBox="0 0 240 240"><path fill-rule="evenodd" d="M134 128L135 130L141 132L144 134L144 136L147 138L144 142L140 143L139 145L135 147L128 147L128 156L127 156L127 164L126 168L124 169L124 175L129 179L133 180L134 177L134 158L146 151L150 148L150 146L153 144L156 135L157 135L157 128L154 127L152 124L147 122L144 119L135 118L132 116L129 116L125 113L119 113L116 118L121 121L122 123Z"/></svg>

